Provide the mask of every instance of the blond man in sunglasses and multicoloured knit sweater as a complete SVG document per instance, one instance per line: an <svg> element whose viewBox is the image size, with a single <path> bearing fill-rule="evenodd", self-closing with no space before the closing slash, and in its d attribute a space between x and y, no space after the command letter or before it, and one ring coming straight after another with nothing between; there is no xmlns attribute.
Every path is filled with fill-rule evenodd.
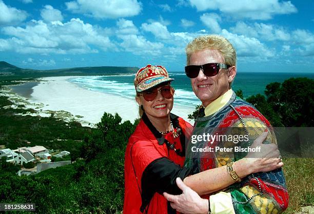
<svg viewBox="0 0 314 214"><path fill-rule="evenodd" d="M199 117L194 124L194 135L200 135L200 130L204 128L242 127L248 133L250 127L262 127L250 130L250 138L256 138L266 128L271 133L268 142L276 144L268 120L254 106L238 98L231 89L237 74L237 55L227 39L219 35L196 38L187 45L186 55L186 75L191 79L193 92L202 101ZM214 156L204 156L192 151L191 142L188 145L185 166L190 167L193 173L227 165L231 178L237 182L224 191L210 195L208 206L211 213L281 213L287 208L288 193L281 169L255 173L241 180L234 172L232 163L243 155L223 158L216 153ZM208 146L213 146L212 142ZM201 204L198 201L204 199L199 198L181 180L177 179L177 184L183 193L164 193L165 197L178 211L194 213L193 203Z"/></svg>

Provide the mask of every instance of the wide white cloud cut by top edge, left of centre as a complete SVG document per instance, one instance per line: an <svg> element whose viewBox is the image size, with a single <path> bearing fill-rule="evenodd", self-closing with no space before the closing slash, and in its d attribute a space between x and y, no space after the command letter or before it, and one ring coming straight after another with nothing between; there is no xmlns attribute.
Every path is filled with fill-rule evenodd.
<svg viewBox="0 0 314 214"><path fill-rule="evenodd" d="M142 5L137 0L76 0L66 2L67 10L100 19L116 19L138 15Z"/></svg>

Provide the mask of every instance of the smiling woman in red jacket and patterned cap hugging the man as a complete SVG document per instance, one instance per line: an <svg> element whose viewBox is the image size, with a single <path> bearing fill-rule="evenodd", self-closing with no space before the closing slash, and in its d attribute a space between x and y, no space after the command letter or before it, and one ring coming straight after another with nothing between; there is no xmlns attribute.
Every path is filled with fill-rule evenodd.
<svg viewBox="0 0 314 214"><path fill-rule="evenodd" d="M234 183L226 166L190 176L190 169L183 167L185 142L192 126L170 113L174 94L172 80L163 66L147 65L135 75L135 99L142 119L129 138L125 153L124 213L175 213L162 194L181 193L175 182L177 177L191 189L199 188L198 184L203 183L199 181L206 181L208 186L202 188L207 194ZM279 156L273 145L259 146L263 157ZM232 170L242 178L282 166L279 158L243 158L234 162ZM219 182L214 182L217 179Z"/></svg>

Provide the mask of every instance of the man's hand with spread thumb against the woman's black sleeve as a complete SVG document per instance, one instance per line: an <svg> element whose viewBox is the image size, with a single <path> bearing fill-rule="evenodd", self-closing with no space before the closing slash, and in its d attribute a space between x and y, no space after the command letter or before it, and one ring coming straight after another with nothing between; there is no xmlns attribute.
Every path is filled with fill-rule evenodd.
<svg viewBox="0 0 314 214"><path fill-rule="evenodd" d="M176 178L176 185L183 191L180 195L164 192L164 197L170 201L171 207L185 214L208 213L208 200L202 199L198 193L186 186L180 177Z"/></svg>

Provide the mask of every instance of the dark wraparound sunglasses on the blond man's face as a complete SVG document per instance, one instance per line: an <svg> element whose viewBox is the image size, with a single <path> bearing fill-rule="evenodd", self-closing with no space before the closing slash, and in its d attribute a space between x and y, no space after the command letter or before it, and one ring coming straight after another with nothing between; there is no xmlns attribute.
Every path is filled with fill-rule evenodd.
<svg viewBox="0 0 314 214"><path fill-rule="evenodd" d="M196 78L199 76L200 69L202 68L204 75L213 77L218 75L220 68L227 69L229 65L223 63L207 63L204 65L188 65L185 66L185 74L189 78Z"/></svg>

